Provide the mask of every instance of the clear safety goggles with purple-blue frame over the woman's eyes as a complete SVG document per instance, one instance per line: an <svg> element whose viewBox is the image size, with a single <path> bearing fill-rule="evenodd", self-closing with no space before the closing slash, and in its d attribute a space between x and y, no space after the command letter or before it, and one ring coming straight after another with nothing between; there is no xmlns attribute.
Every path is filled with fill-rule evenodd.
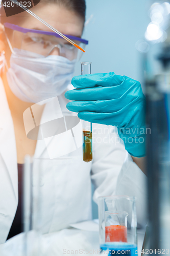
<svg viewBox="0 0 170 256"><path fill-rule="evenodd" d="M11 23L4 23L4 27L14 30L12 48L34 52L44 57L55 51L56 55L63 56L69 60L80 59L82 56L82 51L54 32L26 29ZM88 45L88 41L85 39L71 35L65 36L74 40L83 49Z"/></svg>

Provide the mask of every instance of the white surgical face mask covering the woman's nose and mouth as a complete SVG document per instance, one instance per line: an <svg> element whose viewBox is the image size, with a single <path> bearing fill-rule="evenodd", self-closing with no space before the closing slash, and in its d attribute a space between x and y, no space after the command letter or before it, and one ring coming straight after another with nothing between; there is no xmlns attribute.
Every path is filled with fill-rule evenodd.
<svg viewBox="0 0 170 256"><path fill-rule="evenodd" d="M22 101L38 103L61 95L74 73L76 60L58 55L42 57L14 49L7 79L11 91Z"/></svg>

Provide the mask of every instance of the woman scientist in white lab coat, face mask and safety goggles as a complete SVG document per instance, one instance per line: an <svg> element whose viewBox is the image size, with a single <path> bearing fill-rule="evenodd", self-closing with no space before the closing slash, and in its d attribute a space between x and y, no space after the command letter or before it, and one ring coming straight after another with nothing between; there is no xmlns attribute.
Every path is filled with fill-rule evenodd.
<svg viewBox="0 0 170 256"><path fill-rule="evenodd" d="M78 44L86 42L81 39L84 0L41 0L33 11ZM77 50L26 12L6 17L3 6L0 12L0 46L6 62L0 81L0 244L21 232L20 170L26 154L34 156L33 175L41 169L43 233L66 230L72 223L91 219L91 181L95 201L115 193L136 196L138 223L145 224L145 176L132 159L124 163L126 150L120 140L117 142L113 126L93 125L93 160L89 163L83 162L82 147L75 150L72 140L67 141L68 154L51 159L45 140L27 137L23 113L35 103L39 120L53 113L57 116L60 108L64 115L74 115L66 109L69 100L64 94ZM39 104L46 99L50 100ZM55 136L48 140L53 152L63 144L54 140Z"/></svg>

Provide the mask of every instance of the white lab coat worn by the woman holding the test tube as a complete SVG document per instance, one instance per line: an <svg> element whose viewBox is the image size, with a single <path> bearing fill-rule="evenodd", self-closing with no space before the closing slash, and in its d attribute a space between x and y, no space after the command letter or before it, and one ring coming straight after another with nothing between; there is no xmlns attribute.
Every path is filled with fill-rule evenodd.
<svg viewBox="0 0 170 256"><path fill-rule="evenodd" d="M61 110L65 115L69 112L65 105L68 102L64 94L58 97ZM55 112L54 100L48 102L44 113ZM44 113L42 118L44 118ZM137 172L140 184L133 195L142 200L143 211L145 201L145 176L130 161L131 173L124 163L126 151L124 144L116 140L118 135L114 127L108 133L105 125L94 124L93 160L85 163L82 160L82 147L58 159L50 159L43 140L38 140L34 155L33 172L41 169L42 216L41 229L50 233L68 228L70 224L91 219L91 180L95 184L94 200L99 196L114 195L119 175L119 187L125 183L131 186L131 176ZM53 142L53 137L51 141ZM106 143L107 142L107 143ZM69 142L68 142L69 143ZM54 146L55 151L55 146ZM123 166L123 175L120 169ZM128 165L129 166L129 165ZM125 174L126 173L126 174ZM129 183L126 183L128 179ZM123 182L123 183L122 183ZM138 177L133 179L138 182ZM130 188L131 189L131 188ZM121 190L121 189L120 189ZM121 194L121 191L119 191ZM126 191L128 195L128 190ZM7 239L18 203L17 153L14 126L9 110L2 80L0 81L0 244ZM141 214L143 216L143 214ZM143 217L141 217L143 221Z"/></svg>

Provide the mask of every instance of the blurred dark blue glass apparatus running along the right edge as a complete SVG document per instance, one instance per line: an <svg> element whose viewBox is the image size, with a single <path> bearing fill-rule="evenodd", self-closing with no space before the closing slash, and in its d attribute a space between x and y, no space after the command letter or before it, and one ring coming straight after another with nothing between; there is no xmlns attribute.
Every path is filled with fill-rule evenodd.
<svg viewBox="0 0 170 256"><path fill-rule="evenodd" d="M142 53L147 102L147 176L149 222L143 249L155 254L170 250L170 3L157 1L145 41L137 42ZM160 252L160 250L162 250ZM164 252L164 250L167 250ZM150 254L152 254L150 252ZM145 253L147 254L147 253Z"/></svg>

